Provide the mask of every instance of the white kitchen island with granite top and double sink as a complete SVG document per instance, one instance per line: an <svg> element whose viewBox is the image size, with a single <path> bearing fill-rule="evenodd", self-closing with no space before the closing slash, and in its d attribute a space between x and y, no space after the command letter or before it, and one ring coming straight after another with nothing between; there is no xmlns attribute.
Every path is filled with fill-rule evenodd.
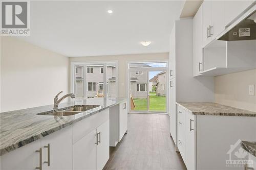
<svg viewBox="0 0 256 170"><path fill-rule="evenodd" d="M116 132L123 135L124 129L127 130L126 99L76 99L61 103L58 111L77 105L95 107L69 116L47 115L53 112L53 105L0 113L1 169L42 169L44 166L43 169L102 169L109 158L113 108L119 117L112 124L118 124L116 127L122 129L122 132L120 129ZM123 115L126 115L126 123L120 120L125 118ZM88 135L91 136L89 140ZM98 153L100 149L103 154ZM93 150L95 159L88 155L94 154ZM87 155L83 155L85 153ZM96 159L97 153L99 158ZM78 158L73 162L76 156ZM84 156L90 159L79 160Z"/></svg>

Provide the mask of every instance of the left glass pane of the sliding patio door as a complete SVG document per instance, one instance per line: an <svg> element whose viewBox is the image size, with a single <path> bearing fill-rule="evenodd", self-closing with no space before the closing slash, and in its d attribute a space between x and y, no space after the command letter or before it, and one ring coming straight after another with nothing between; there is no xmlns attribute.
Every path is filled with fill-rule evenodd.
<svg viewBox="0 0 256 170"><path fill-rule="evenodd" d="M137 72L137 74L136 74ZM130 71L131 110L147 111L147 71Z"/></svg>

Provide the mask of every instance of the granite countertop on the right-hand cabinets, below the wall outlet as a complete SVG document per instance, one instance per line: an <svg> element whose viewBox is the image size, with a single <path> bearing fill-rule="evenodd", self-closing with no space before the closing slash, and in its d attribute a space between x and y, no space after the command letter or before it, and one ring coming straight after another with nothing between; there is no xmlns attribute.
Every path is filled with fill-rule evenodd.
<svg viewBox="0 0 256 170"><path fill-rule="evenodd" d="M195 115L220 115L220 116L251 116L256 117L256 112L206 102L177 102Z"/></svg>

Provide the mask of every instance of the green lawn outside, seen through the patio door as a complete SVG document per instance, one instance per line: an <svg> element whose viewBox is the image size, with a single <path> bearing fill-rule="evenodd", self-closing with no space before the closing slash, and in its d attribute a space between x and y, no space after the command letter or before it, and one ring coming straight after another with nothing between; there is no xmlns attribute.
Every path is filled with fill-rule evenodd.
<svg viewBox="0 0 256 170"><path fill-rule="evenodd" d="M147 110L147 99L134 99L134 110ZM150 111L166 111L166 97L150 92Z"/></svg>

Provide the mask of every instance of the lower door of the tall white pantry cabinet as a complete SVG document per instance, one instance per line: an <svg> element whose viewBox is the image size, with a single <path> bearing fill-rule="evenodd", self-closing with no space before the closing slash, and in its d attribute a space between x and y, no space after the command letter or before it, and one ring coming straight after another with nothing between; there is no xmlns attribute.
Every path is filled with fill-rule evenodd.
<svg viewBox="0 0 256 170"><path fill-rule="evenodd" d="M170 83L172 84L172 87L169 89L170 134L176 144L176 78L171 79Z"/></svg>

